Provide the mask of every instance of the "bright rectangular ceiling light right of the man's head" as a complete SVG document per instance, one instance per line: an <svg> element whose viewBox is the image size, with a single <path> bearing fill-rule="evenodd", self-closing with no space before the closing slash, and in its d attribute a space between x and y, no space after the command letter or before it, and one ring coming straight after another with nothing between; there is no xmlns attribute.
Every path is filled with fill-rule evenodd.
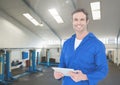
<svg viewBox="0 0 120 85"><path fill-rule="evenodd" d="M101 12L100 12L100 2L92 2L90 3L92 17L93 20L100 20L101 19Z"/></svg>

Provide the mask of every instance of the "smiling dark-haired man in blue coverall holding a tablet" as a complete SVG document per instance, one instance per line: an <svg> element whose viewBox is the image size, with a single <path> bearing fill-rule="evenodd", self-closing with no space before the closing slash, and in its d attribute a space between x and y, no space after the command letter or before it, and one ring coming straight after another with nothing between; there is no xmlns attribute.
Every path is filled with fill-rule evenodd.
<svg viewBox="0 0 120 85"><path fill-rule="evenodd" d="M61 56L61 68L71 68L70 76L54 72L56 79L62 78L62 85L97 85L108 73L104 44L88 32L88 14L84 9L73 12L75 34L65 41Z"/></svg>

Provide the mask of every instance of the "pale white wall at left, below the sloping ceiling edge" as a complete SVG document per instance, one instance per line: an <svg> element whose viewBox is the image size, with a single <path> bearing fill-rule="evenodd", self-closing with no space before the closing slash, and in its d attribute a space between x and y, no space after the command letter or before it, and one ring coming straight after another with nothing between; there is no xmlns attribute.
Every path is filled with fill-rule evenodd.
<svg viewBox="0 0 120 85"><path fill-rule="evenodd" d="M41 47L41 39L0 11L0 48Z"/></svg>

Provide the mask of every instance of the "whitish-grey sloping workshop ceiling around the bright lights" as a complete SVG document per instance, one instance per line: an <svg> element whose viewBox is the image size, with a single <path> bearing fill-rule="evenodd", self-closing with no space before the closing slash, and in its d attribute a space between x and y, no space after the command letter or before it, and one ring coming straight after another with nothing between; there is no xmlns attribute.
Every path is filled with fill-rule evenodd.
<svg viewBox="0 0 120 85"><path fill-rule="evenodd" d="M89 13L88 30L99 38L116 38L120 29L120 0L99 0L101 20L92 20L90 2L98 0L0 0L0 10L25 26L43 40L64 40L74 31L71 13L84 8ZM58 24L48 12L56 8L64 23ZM30 13L43 27L31 24L22 14Z"/></svg>

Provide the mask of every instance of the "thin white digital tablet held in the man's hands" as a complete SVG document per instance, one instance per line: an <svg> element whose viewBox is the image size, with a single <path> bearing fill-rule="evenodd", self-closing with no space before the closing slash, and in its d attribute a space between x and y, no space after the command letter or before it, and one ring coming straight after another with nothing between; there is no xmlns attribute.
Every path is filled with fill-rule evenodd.
<svg viewBox="0 0 120 85"><path fill-rule="evenodd" d="M64 76L69 76L70 71L74 71L73 69L70 68L60 68L60 67L52 67L52 69L56 72L61 72L63 73Z"/></svg>

